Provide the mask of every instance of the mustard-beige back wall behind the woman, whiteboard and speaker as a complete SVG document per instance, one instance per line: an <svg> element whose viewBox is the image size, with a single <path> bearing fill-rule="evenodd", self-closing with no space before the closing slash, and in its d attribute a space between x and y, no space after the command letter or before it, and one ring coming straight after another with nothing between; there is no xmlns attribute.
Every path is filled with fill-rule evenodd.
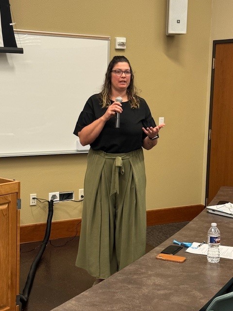
<svg viewBox="0 0 233 311"><path fill-rule="evenodd" d="M166 0L11 0L17 29L111 36L110 57L124 53L155 121L158 145L145 151L147 208L203 204L211 0L188 1L186 35L166 36ZM127 49L114 49L125 36ZM90 94L92 95L92 94ZM84 104L84 103L83 103ZM71 112L72 113L72 112ZM78 118L78 116L77 116ZM29 194L83 188L86 155L0 159L0 175L21 181L21 225L45 222L45 204ZM81 217L82 203L58 203L53 220Z"/></svg>

